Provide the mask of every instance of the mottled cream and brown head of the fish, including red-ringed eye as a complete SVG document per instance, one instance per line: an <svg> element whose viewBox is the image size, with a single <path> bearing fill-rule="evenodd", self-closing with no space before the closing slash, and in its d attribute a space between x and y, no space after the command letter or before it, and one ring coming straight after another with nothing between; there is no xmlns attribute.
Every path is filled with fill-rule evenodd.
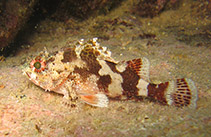
<svg viewBox="0 0 211 137"><path fill-rule="evenodd" d="M80 61L65 61L64 51L49 54L41 52L31 59L23 69L24 75L34 84L47 91L55 91L61 87L66 80L70 80L74 68L82 66Z"/></svg>

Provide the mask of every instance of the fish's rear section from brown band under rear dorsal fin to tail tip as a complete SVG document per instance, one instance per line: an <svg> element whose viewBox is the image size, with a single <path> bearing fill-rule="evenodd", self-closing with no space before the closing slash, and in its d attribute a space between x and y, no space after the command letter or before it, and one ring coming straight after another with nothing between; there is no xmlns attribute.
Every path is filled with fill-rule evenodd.
<svg viewBox="0 0 211 137"><path fill-rule="evenodd" d="M126 95L127 99L132 99L134 96L138 99L147 97L166 105L196 107L197 89L191 79L181 78L160 84L150 83L149 61L146 58L127 61L122 76L123 95Z"/></svg>

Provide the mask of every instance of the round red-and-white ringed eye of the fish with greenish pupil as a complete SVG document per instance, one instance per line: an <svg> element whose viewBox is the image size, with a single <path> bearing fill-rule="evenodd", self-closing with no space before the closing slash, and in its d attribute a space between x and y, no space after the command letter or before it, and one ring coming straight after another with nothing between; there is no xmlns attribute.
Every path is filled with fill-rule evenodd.
<svg viewBox="0 0 211 137"><path fill-rule="evenodd" d="M31 61L30 67L35 72L42 72L45 70L46 63L40 58L35 58Z"/></svg>

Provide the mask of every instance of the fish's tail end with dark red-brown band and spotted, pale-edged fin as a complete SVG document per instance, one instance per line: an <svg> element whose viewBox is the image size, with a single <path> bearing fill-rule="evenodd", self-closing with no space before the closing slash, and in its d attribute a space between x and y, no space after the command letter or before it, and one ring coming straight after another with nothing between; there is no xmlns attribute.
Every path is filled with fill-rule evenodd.
<svg viewBox="0 0 211 137"><path fill-rule="evenodd" d="M148 97L177 107L196 107L197 89L191 79L182 78L158 85L149 84Z"/></svg>

